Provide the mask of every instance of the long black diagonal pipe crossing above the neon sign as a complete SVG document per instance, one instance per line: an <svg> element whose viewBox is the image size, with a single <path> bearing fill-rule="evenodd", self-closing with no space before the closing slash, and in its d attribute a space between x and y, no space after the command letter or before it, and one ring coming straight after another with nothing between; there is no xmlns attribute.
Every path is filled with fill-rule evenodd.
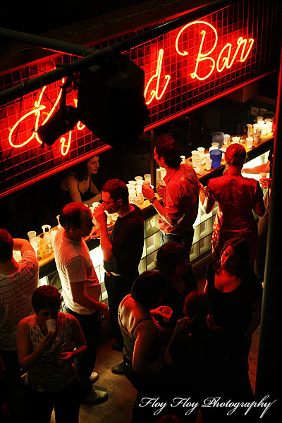
<svg viewBox="0 0 282 423"><path fill-rule="evenodd" d="M197 8L195 11L191 11L190 13L187 13L184 16L180 16L179 18L173 19L167 23L154 27L151 30L141 32L140 34L134 35L133 37L130 37L128 39L123 39L121 42L117 42L110 48L115 53L123 53L124 51L129 51L133 47L137 47L140 44L149 41L150 39L157 38L160 35L165 34L166 32L175 30L184 23L188 23L188 18L189 20L195 20L203 15L207 15L216 10L219 10L219 8L226 7L237 2L238 0L216 0L212 4ZM0 92L0 106L3 106L8 102L22 97L25 94L29 94L30 92L38 90L44 85L56 82L63 77L71 75L71 73L75 73L85 67L92 66L108 55L109 47L106 47L105 49L99 51L96 50L91 54L87 54L87 56L83 57L82 59L78 59L77 61L71 63L64 63L63 67L60 66L54 71L50 71L44 75L39 75L35 78L32 78L31 80L26 80L25 82L23 82L23 84L18 84L15 87L8 88L7 90Z"/></svg>

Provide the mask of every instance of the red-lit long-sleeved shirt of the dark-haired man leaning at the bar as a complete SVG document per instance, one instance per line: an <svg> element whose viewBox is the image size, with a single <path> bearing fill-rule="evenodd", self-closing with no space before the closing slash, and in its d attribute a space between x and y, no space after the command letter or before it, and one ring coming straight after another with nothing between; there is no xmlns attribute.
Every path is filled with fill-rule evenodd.
<svg viewBox="0 0 282 423"><path fill-rule="evenodd" d="M164 182L166 221L159 216L159 230L178 235L192 228L197 218L200 183L188 164L180 164L178 169L169 168Z"/></svg>

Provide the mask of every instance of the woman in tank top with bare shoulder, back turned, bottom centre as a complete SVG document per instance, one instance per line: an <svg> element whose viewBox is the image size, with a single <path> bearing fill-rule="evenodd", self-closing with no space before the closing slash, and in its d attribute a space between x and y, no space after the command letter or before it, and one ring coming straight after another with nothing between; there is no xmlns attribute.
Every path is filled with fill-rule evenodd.
<svg viewBox="0 0 282 423"><path fill-rule="evenodd" d="M131 293L123 298L119 306L118 321L124 340L124 374L138 391L132 422L144 422L145 416L148 422L153 421L152 408L140 407L139 404L150 393L160 396L168 385L168 378L164 378L163 331L152 315L152 309L164 298L166 286L163 274L145 271L137 276Z"/></svg>

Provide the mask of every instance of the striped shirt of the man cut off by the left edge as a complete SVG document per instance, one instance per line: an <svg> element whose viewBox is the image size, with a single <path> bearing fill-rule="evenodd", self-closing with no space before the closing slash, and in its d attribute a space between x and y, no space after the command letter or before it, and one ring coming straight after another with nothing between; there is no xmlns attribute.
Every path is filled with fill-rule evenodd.
<svg viewBox="0 0 282 423"><path fill-rule="evenodd" d="M0 274L0 350L17 349L17 326L33 313L32 293L38 285L39 264L35 252L25 251L18 270Z"/></svg>

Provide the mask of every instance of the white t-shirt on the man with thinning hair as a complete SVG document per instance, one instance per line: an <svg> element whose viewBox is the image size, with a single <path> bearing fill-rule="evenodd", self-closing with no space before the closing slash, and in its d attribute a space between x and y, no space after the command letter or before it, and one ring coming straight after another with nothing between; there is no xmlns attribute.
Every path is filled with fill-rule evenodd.
<svg viewBox="0 0 282 423"><path fill-rule="evenodd" d="M82 307L73 301L71 283L84 284L85 295L99 300L101 287L84 240L73 241L66 238L64 228L60 228L54 240L54 257L61 279L63 300L66 307L78 314L92 314L95 310Z"/></svg>

